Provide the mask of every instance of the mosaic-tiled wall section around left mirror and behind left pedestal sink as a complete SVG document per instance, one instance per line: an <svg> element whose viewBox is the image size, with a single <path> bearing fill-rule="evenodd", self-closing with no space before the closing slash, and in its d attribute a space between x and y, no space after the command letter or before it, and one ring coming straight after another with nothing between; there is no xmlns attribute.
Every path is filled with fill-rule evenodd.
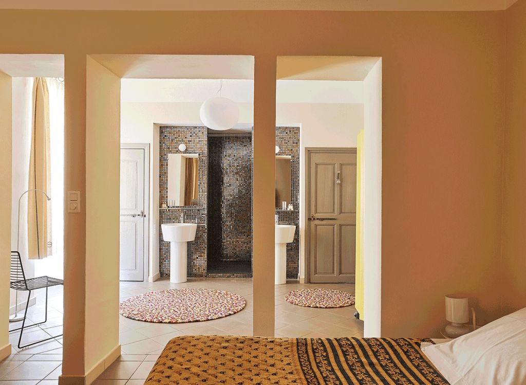
<svg viewBox="0 0 526 385"><path fill-rule="evenodd" d="M186 222L206 222L208 183L208 129L206 127L161 126L159 135L159 234L162 223L180 222L181 213ZM168 198L168 154L180 153L179 144L186 144L185 153L199 154L199 204L193 208L163 209ZM207 228L197 226L196 239L188 242L188 277L205 277L207 270ZM159 236L159 273L170 275L170 243Z"/></svg>

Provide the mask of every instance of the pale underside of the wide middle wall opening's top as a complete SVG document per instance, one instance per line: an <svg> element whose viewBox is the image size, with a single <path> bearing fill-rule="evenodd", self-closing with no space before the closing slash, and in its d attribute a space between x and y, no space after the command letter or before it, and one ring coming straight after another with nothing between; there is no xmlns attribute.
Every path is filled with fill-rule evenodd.
<svg viewBox="0 0 526 385"><path fill-rule="evenodd" d="M254 56L91 55L122 78L253 79Z"/></svg>

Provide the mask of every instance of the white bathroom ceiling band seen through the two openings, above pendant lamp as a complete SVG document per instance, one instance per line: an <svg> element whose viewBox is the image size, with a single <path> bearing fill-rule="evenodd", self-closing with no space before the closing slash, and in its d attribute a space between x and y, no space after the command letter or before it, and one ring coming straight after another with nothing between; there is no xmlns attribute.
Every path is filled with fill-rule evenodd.
<svg viewBox="0 0 526 385"><path fill-rule="evenodd" d="M123 79L124 103L203 103L218 94L219 80ZM254 103L253 80L224 80L221 96ZM349 81L278 80L277 103L363 103L363 83Z"/></svg>

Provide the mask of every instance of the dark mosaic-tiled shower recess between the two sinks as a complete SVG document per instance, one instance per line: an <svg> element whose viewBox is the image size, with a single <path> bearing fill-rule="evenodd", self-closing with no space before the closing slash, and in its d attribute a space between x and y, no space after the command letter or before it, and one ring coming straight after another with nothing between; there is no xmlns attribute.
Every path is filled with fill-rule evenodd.
<svg viewBox="0 0 526 385"><path fill-rule="evenodd" d="M208 136L208 274L251 277L252 140Z"/></svg>

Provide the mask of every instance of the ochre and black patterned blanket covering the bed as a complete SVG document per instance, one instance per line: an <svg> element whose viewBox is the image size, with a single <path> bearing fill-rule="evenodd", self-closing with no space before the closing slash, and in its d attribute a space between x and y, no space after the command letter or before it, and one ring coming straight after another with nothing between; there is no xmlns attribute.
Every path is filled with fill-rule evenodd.
<svg viewBox="0 0 526 385"><path fill-rule="evenodd" d="M176 337L146 384L426 384L448 382L411 338Z"/></svg>

